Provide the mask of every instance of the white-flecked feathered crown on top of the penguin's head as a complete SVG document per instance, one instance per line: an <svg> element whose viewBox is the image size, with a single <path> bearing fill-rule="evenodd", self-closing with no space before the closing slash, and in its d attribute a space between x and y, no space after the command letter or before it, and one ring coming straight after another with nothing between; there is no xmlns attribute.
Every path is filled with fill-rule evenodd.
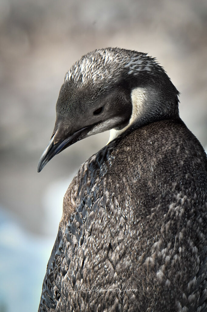
<svg viewBox="0 0 207 312"><path fill-rule="evenodd" d="M94 85L96 82L118 81L120 75L131 75L133 79L143 71L159 74L164 69L146 53L109 47L82 56L67 71L65 82L74 80L83 86Z"/></svg>

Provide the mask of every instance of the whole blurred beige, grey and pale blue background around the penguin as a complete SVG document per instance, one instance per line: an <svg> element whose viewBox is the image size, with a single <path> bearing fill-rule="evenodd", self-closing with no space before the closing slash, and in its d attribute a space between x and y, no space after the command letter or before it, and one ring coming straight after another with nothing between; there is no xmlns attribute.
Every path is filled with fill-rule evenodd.
<svg viewBox="0 0 207 312"><path fill-rule="evenodd" d="M64 193L108 141L104 133L78 142L37 173L66 71L96 48L148 52L206 148L206 34L206 0L0 0L0 312L38 310Z"/></svg>

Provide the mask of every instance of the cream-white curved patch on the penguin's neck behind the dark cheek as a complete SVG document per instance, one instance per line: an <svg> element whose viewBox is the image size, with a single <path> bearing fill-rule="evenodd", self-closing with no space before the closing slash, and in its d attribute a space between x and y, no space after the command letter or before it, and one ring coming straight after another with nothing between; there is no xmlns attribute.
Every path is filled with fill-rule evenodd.
<svg viewBox="0 0 207 312"><path fill-rule="evenodd" d="M113 139L117 138L117 136L119 136L123 132L125 132L129 127L131 127L132 124L134 124L140 118L143 113L143 107L146 98L146 89L144 88L138 87L131 91L132 113L129 119L129 123L121 130L111 129L108 143L111 142Z"/></svg>

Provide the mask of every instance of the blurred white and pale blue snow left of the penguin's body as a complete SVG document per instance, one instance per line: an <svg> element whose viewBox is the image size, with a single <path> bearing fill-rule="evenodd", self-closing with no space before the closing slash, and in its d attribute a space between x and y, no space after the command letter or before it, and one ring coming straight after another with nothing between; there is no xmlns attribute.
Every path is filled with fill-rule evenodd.
<svg viewBox="0 0 207 312"><path fill-rule="evenodd" d="M0 206L0 312L37 312L41 285L58 232L62 200L71 179L52 182L43 196L50 236L26 231Z"/></svg>

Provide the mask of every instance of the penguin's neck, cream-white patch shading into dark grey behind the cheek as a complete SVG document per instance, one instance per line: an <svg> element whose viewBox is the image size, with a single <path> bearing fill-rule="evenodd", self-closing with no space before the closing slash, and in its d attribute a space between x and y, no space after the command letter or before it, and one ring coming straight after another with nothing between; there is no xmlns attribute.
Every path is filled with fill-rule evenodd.
<svg viewBox="0 0 207 312"><path fill-rule="evenodd" d="M128 124L122 129L111 129L108 143L129 129L171 117L179 117L177 95L171 99L149 88L137 87L131 91L131 103L132 113Z"/></svg>

